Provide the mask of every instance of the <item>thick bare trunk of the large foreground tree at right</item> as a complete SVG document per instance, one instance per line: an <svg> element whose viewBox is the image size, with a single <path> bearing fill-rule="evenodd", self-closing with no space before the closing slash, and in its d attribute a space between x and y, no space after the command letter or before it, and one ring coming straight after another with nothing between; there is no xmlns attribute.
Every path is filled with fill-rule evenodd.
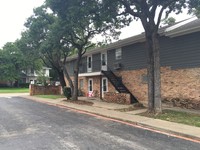
<svg viewBox="0 0 200 150"><path fill-rule="evenodd" d="M146 31L148 47L148 111L150 113L162 112L161 83L160 83L160 54L157 32Z"/></svg>

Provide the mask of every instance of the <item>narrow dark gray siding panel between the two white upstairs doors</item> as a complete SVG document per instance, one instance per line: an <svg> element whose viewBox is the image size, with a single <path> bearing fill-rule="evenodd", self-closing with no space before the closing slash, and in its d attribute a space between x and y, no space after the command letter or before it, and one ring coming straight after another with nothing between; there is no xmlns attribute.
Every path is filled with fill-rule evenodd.
<svg viewBox="0 0 200 150"><path fill-rule="evenodd" d="M92 72L101 71L101 54L92 55Z"/></svg>

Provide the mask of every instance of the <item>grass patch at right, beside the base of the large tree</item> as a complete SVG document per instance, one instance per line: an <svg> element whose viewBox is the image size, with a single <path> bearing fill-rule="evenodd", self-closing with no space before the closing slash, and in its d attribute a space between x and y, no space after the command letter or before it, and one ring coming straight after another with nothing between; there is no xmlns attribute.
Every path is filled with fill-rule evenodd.
<svg viewBox="0 0 200 150"><path fill-rule="evenodd" d="M152 114L147 114L147 113L142 113L139 115L200 127L200 115L198 114L178 112L178 111L172 111L172 110L163 110L163 113L157 116L154 116Z"/></svg>

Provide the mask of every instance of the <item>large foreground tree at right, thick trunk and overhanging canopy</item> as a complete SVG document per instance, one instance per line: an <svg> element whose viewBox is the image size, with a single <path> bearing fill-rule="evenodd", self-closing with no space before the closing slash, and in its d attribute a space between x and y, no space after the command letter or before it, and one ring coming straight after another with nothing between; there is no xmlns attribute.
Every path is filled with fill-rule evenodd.
<svg viewBox="0 0 200 150"><path fill-rule="evenodd" d="M112 8L115 16L141 21L148 50L148 111L162 112L158 34L162 15L165 13L167 17L171 12L181 13L186 7L190 10L199 8L200 0L103 0L102 4L107 6L104 11Z"/></svg>

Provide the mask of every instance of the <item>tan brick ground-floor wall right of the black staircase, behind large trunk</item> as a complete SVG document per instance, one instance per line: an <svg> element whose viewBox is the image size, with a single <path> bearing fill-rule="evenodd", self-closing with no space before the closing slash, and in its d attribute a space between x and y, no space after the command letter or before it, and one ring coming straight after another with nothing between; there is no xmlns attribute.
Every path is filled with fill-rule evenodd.
<svg viewBox="0 0 200 150"><path fill-rule="evenodd" d="M148 85L146 69L119 71L116 73L131 93L143 104L147 104ZM162 99L174 98L196 101L200 104L200 68L161 68Z"/></svg>

